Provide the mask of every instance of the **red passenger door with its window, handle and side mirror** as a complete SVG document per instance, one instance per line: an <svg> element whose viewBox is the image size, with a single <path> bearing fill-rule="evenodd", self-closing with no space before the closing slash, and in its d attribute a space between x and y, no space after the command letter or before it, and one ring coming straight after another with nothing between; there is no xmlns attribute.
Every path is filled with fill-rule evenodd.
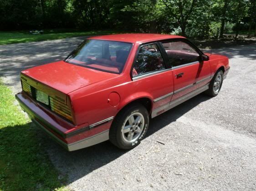
<svg viewBox="0 0 256 191"><path fill-rule="evenodd" d="M174 101L198 88L197 80L210 73L210 66L208 61L207 64L199 61L198 50L185 39L165 41L162 45L172 67L174 95L171 101Z"/></svg>

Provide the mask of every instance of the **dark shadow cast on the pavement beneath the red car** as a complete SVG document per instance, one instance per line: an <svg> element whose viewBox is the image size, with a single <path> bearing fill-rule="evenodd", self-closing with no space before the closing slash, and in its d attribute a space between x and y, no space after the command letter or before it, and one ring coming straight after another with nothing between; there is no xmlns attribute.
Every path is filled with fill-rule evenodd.
<svg viewBox="0 0 256 191"><path fill-rule="evenodd" d="M190 109L193 109L195 106L207 101L208 99L210 99L210 97L200 94L169 110L168 112L151 119L145 138L150 138L150 135L159 131L161 128L166 127L172 122L175 122L179 117L184 115L184 113L187 113ZM42 135L45 134L43 133ZM45 137L44 141L49 142L49 137ZM58 153L58 157L55 156L51 158L56 160L53 161L53 163L58 167L58 169L63 170L61 173L63 175L68 175L69 179L67 184L86 176L97 168L107 165L118 157L121 157L126 152L129 152L118 149L109 141L74 152L67 152L64 148L53 141L48 143L48 148L50 148L48 152L50 156Z"/></svg>

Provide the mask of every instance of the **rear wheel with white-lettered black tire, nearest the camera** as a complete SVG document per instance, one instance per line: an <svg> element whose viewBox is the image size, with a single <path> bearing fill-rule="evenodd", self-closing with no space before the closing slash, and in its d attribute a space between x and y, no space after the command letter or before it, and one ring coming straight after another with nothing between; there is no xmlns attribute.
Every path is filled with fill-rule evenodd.
<svg viewBox="0 0 256 191"><path fill-rule="evenodd" d="M123 109L109 130L109 140L120 149L132 149L148 131L148 110L137 103Z"/></svg>

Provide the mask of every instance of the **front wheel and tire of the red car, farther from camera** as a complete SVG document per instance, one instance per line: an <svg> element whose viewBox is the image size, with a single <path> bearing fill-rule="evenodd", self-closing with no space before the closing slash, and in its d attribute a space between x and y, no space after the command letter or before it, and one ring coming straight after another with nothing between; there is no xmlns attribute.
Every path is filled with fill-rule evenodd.
<svg viewBox="0 0 256 191"><path fill-rule="evenodd" d="M205 93L211 97L215 97L216 95L219 94L222 83L223 83L223 71L218 70L210 82L209 89L206 90Z"/></svg>

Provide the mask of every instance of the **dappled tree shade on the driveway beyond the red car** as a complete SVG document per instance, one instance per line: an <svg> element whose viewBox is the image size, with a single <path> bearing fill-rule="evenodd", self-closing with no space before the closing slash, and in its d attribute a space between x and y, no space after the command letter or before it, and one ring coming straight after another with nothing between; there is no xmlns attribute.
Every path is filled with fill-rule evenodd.
<svg viewBox="0 0 256 191"><path fill-rule="evenodd" d="M4 83L20 88L20 71L34 66L63 60L86 37L75 37L33 43L9 44L0 46L0 77ZM205 50L210 52L210 50ZM229 48L213 49L212 53L223 54L232 59L246 57L256 59L256 44L238 45Z"/></svg>

